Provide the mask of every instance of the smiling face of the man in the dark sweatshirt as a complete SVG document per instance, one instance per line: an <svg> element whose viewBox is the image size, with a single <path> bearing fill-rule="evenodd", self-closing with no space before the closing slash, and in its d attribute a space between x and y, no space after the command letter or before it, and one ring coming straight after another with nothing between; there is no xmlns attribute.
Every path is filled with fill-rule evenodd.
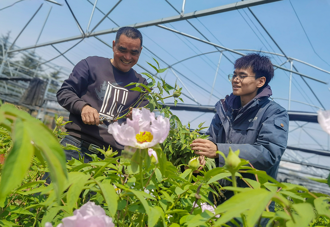
<svg viewBox="0 0 330 227"><path fill-rule="evenodd" d="M111 63L120 71L128 72L135 65L142 50L139 38L128 38L125 35L119 37L118 42L112 42L114 59Z"/></svg>

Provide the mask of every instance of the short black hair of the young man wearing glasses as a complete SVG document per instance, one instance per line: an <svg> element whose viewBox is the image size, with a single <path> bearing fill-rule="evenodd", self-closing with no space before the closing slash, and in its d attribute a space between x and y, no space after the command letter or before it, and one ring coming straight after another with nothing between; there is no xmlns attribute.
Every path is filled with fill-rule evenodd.
<svg viewBox="0 0 330 227"><path fill-rule="evenodd" d="M255 78L266 77L265 85L274 77L274 67L273 63L270 60L270 57L259 53L248 53L246 56L243 56L237 59L234 63L235 69L248 69L251 68L252 72L255 73Z"/></svg>

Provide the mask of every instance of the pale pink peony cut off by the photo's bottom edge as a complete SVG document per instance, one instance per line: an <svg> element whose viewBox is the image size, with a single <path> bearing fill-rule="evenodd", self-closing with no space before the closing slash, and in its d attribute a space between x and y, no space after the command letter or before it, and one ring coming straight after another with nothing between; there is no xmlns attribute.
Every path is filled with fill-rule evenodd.
<svg viewBox="0 0 330 227"><path fill-rule="evenodd" d="M73 216L62 219L63 224L57 227L115 227L112 218L105 214L103 208L94 202L87 202L73 212ZM52 227L47 222L45 227Z"/></svg>

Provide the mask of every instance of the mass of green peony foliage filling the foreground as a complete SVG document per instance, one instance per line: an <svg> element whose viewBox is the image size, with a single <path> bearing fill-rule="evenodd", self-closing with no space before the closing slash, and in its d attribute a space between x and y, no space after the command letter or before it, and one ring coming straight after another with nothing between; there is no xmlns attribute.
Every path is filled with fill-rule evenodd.
<svg viewBox="0 0 330 227"><path fill-rule="evenodd" d="M163 84L161 90L165 88L170 89ZM152 95L157 97L156 93L148 93L148 97ZM160 111L171 114L168 109ZM65 123L57 118L56 124ZM187 146L194 136L202 137L202 125L192 133L189 126L179 126L181 122L175 116L171 124L172 140L162 144L164 150L170 149L170 143L174 147L180 142ZM6 159L0 173L1 226L36 227L45 226L46 222L56 226L88 200L101 205L120 227L211 227L226 226L229 221L252 227L258 225L261 217L270 218L267 226L330 226L328 195L277 182L264 171L246 165L247 161L234 157L239 151L225 157L224 167L203 171L203 175L195 177L191 169L179 173L173 164L176 152L185 149L182 146L175 151L171 146L172 152L164 152L159 145L153 147L159 161L156 165L151 163L147 149L137 150L131 160L125 159L127 162L119 163L121 157L114 157L115 153L108 149L104 151L109 152L105 160L94 154L89 163L75 159L66 163L57 138L62 132L56 129L54 136L42 122L15 106L1 106L0 127L0 148ZM168 152L172 154L171 161L167 161ZM180 155L188 160L192 152L187 148ZM51 173L49 185L41 180L45 171ZM242 173L255 174L259 180L243 178ZM237 178L248 187L236 187ZM232 186L222 187L220 179L232 181ZM234 191L234 196L217 206L214 213L202 212L201 204L213 203L208 193L216 198L223 190ZM268 210L271 201L279 206L276 213ZM221 216L216 217L217 214Z"/></svg>

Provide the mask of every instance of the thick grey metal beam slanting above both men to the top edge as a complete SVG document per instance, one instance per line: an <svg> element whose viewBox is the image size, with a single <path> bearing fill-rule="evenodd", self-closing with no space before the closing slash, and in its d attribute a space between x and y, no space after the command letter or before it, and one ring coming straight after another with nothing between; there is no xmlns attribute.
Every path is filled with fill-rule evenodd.
<svg viewBox="0 0 330 227"><path fill-rule="evenodd" d="M195 17L201 17L201 16L213 15L213 14L217 14L217 13L229 12L229 11L233 11L233 10L237 10L237 9L247 8L249 6L257 6L257 5L262 5L262 4L271 3L271 2L278 2L278 1L282 1L282 0L247 0L247 1L244 1L244 2L236 2L236 3L231 3L231 4L228 4L228 5L214 7L214 8L210 8L210 9L207 9L207 10L201 10L201 11L195 11L195 12L192 12L192 13L186 13L182 17L180 17L180 15L176 15L176 16L157 19L157 20L131 24L131 25L127 25L127 26L135 27L135 28L144 28L144 27L148 27L148 26L152 26L152 25L165 24L165 23L170 23L170 22L175 22L175 21L180 21L180 20L191 19L191 18L195 18ZM120 27L118 26L117 28L111 28L111 29L107 29L107 30L103 30L103 31L93 32L93 33L90 33L90 34L86 34L86 37L94 37L94 36L99 36L99 35L104 35L104 34L115 33L115 32L118 31L119 28ZM73 36L73 37L69 37L69 38L50 41L50 42L47 42L47 43L41 43L41 44L35 45L35 46L28 46L28 47L19 48L19 49L16 49L16 50L12 50L10 52L16 52L16 51L27 50L27 49L32 49L32 48L36 48L36 47L56 44L56 43L60 43L60 42L71 41L71 40L79 39L81 37L82 36Z"/></svg>

